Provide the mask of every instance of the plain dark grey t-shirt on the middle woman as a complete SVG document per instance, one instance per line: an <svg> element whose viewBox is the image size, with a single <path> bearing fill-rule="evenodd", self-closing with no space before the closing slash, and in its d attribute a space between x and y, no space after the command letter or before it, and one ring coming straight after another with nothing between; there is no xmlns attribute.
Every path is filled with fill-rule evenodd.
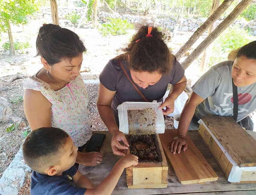
<svg viewBox="0 0 256 195"><path fill-rule="evenodd" d="M126 69L130 79L132 80L130 70L127 68L127 62L120 58ZM168 84L176 84L184 76L184 69L180 65L178 60L174 60L173 67L170 72L163 74L161 79L155 85L149 85L143 89L135 83L142 94L148 99L148 101L157 100L162 101L162 98L166 92ZM120 67L116 58L111 59L104 67L99 76L101 84L110 91L116 91L112 100L112 109L116 120L118 119L117 106L126 101L144 102L143 98L139 95L133 85L125 76L122 68ZM118 121L117 121L118 122Z"/></svg>

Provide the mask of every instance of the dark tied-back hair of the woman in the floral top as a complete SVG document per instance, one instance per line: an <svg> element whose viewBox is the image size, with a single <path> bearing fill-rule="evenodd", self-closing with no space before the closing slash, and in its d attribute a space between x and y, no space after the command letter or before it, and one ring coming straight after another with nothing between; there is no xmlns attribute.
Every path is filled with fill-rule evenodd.
<svg viewBox="0 0 256 195"><path fill-rule="evenodd" d="M36 38L36 56L45 58L49 65L65 58L71 61L86 50L78 35L69 29L54 24L44 24L39 29Z"/></svg>

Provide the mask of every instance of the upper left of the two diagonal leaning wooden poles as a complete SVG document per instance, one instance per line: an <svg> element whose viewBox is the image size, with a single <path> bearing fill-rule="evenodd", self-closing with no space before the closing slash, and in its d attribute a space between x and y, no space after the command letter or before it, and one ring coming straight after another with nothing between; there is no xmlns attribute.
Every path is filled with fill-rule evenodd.
<svg viewBox="0 0 256 195"><path fill-rule="evenodd" d="M221 14L229 7L229 5L234 0L224 0L223 3L218 7L218 9L200 26L194 34L189 38L189 40L180 48L180 50L175 54L176 58L179 60L180 57L186 53L196 40L206 31L206 29L213 24Z"/></svg>

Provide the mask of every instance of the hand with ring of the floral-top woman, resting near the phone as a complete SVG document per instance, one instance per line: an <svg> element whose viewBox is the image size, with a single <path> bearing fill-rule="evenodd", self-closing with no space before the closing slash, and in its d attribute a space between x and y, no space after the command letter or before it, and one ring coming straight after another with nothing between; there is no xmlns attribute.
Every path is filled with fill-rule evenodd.
<svg viewBox="0 0 256 195"><path fill-rule="evenodd" d="M101 164L101 162L103 161L103 154L99 152L88 152L88 153L78 152L77 160L78 159L79 159L79 162L77 163L83 164L84 166L88 166L88 167L94 167L98 164Z"/></svg>

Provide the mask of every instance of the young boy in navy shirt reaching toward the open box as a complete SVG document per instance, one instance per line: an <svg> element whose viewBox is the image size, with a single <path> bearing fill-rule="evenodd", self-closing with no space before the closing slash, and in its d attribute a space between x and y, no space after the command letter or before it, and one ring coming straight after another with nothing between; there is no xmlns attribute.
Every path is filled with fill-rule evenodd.
<svg viewBox="0 0 256 195"><path fill-rule="evenodd" d="M23 144L23 158L33 169L31 195L111 194L124 168L138 164L137 156L124 156L95 187L74 167L76 156L77 147L65 131L53 127L32 131Z"/></svg>

